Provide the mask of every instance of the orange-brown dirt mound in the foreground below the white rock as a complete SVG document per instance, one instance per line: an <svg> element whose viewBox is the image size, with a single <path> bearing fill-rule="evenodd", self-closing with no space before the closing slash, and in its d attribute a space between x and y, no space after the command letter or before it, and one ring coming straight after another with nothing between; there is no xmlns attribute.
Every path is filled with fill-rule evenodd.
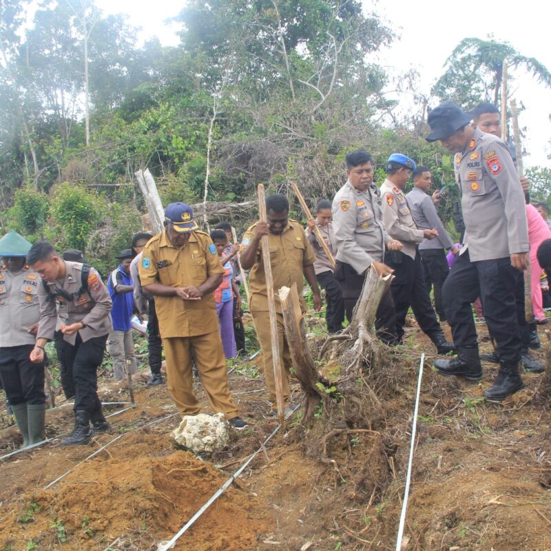
<svg viewBox="0 0 551 551"><path fill-rule="evenodd" d="M1 548L25 550L32 541L37 544L32 549L95 551L123 535L129 548L148 550L170 539L227 477L183 451L151 456L166 448L166 436L136 435L51 490L26 496L0 522ZM256 547L256 534L269 528L257 501L243 489L229 488L189 531L194 550ZM186 536L176 549L186 548L185 541Z"/></svg>

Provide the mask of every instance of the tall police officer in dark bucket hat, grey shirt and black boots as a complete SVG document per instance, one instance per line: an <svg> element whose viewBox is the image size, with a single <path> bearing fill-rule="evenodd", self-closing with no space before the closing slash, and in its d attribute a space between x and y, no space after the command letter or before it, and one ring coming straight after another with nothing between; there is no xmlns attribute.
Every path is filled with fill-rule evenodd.
<svg viewBox="0 0 551 551"><path fill-rule="evenodd" d="M523 388L514 289L529 263L526 207L506 144L469 123L470 115L451 101L428 114L431 132L427 141L440 141L455 154L455 177L466 226L465 245L442 289L459 355L451 361L437 360L435 366L443 375L469 380L482 377L470 307L480 296L500 364L497 379L484 397L500 402Z"/></svg>

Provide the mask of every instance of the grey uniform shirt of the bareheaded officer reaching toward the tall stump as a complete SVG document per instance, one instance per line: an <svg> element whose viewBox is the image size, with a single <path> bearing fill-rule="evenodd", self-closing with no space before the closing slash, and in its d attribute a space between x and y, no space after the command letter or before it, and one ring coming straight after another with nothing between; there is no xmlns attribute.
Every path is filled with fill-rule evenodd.
<svg viewBox="0 0 551 551"><path fill-rule="evenodd" d="M381 198L373 187L357 191L347 181L333 199L335 259L364 273L371 262L382 262L386 243L391 240L384 229Z"/></svg>

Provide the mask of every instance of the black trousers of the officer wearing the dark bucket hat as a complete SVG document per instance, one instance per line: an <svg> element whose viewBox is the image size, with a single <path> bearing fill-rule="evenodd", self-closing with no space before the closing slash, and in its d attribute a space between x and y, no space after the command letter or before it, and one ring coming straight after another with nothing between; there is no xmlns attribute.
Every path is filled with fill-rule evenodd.
<svg viewBox="0 0 551 551"><path fill-rule="evenodd" d="M499 357L505 362L518 362L522 344L516 307L519 280L521 273L511 266L509 258L470 262L465 251L455 259L442 289L442 299L453 342L459 348L477 344L470 304L480 297Z"/></svg>

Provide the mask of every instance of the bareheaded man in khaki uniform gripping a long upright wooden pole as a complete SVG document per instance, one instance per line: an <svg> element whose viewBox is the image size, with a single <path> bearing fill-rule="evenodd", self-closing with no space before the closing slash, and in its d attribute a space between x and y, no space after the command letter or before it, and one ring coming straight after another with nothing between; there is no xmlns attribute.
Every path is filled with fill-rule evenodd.
<svg viewBox="0 0 551 551"><path fill-rule="evenodd" d="M249 284L251 286L251 304L249 309L258 335L258 342L262 349L264 363L264 379L268 387L269 399L273 411L275 403L275 380L273 377L273 357L271 351L270 316L268 308L268 291L264 261L262 260L262 236L268 236L270 263L273 275L273 291L275 293L275 311L278 316L278 341L280 357L287 377L283 380L283 397L285 414L290 411L289 404L289 370L291 369L291 354L289 344L285 339L283 314L278 291L281 287L297 285L302 311L306 311L306 304L302 299L304 278L313 291L313 302L316 310L322 307L320 289L315 279L313 264L315 254L302 226L295 220L289 219L289 201L284 195L272 195L266 199L267 222L256 222L243 236L241 245L241 265L249 270ZM304 330L304 324L301 323Z"/></svg>

